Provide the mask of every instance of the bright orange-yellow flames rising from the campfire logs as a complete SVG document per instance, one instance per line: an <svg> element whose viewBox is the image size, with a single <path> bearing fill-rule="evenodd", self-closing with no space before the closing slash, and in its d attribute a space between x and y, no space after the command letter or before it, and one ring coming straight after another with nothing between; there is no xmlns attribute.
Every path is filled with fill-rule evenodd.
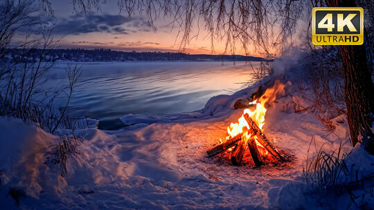
<svg viewBox="0 0 374 210"><path fill-rule="evenodd" d="M226 139L243 133L243 131L246 131L246 128L249 129L249 124L247 123L247 120L244 119L244 114L246 113L254 122L256 122L261 131L263 131L263 126L265 125L265 113L267 111L267 108L265 108L265 106L273 104L276 99L276 95L284 94L284 89L285 84L282 84L277 80L274 86L272 88L268 88L259 99L255 99L253 100L253 102L249 102L249 104L256 104L256 109L254 109L253 111L250 111L248 108L244 109L242 116L238 119L238 123L231 122L230 126L227 127L227 133L229 133L229 136L227 136ZM255 140L261 155L267 155L267 150L265 150L265 147L262 146L260 142L258 142L256 135L252 136L251 133L244 132L242 135L242 139Z"/></svg>

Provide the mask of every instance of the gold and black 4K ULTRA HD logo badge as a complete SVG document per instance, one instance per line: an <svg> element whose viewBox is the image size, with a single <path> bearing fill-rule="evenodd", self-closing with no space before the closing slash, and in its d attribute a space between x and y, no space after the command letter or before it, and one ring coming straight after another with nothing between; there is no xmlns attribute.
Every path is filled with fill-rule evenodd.
<svg viewBox="0 0 374 210"><path fill-rule="evenodd" d="M312 42L315 45L364 43L362 8L313 8Z"/></svg>

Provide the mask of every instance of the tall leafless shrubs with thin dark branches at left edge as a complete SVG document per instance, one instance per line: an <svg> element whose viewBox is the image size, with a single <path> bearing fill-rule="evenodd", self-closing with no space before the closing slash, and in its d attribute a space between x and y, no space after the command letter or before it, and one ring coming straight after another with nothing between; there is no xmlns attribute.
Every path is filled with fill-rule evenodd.
<svg viewBox="0 0 374 210"><path fill-rule="evenodd" d="M58 48L59 40L53 37L54 24L41 19L47 8L40 7L38 2L28 0L0 2L0 115L37 122L54 133L66 122L66 107L81 71L78 66L68 66L68 87L44 85L46 74L55 64L55 58L46 51ZM66 106L58 113L55 99L66 89Z"/></svg>

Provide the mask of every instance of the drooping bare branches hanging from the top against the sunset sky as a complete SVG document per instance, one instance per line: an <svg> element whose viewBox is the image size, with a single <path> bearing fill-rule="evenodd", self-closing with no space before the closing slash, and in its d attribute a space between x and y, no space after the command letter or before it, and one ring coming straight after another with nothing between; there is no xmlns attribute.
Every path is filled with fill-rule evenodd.
<svg viewBox="0 0 374 210"><path fill-rule="evenodd" d="M49 1L49 0L42 0ZM75 12L99 11L100 0L73 0ZM45 3L48 5L48 3ZM292 47L299 17L305 1L293 0L118 0L119 12L128 16L146 15L156 30L157 19L167 17L172 26L179 27L180 50L196 37L200 25L211 39L211 48L217 39L225 43L224 53L234 53L240 44L247 54L249 49L274 58ZM145 14L144 14L145 13ZM197 33L197 34L193 34Z"/></svg>

